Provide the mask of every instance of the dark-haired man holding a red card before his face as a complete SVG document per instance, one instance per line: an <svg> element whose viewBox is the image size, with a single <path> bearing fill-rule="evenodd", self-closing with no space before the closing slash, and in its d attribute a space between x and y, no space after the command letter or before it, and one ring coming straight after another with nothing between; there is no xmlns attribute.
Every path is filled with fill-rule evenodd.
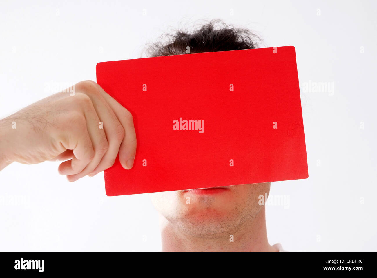
<svg viewBox="0 0 377 278"><path fill-rule="evenodd" d="M150 46L149 56L256 47L250 31L216 27L218 23L177 32L167 43ZM99 122L106 124L99 128ZM111 167L118 153L125 169L132 168L135 158L131 113L93 81L79 82L2 119L0 131L0 170L14 161L59 159L65 160L59 173L74 182ZM268 182L151 194L160 214L163 251L282 251L280 244L268 244L265 207L258 202L269 191Z"/></svg>

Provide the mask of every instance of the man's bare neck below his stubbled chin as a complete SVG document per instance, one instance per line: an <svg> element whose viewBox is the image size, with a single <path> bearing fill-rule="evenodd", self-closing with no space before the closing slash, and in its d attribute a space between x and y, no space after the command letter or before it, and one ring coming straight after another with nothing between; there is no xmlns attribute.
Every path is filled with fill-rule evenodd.
<svg viewBox="0 0 377 278"><path fill-rule="evenodd" d="M197 237L182 231L160 215L162 251L277 251L268 244L265 220L265 208L252 221L226 235L214 235L210 238ZM234 241L230 241L230 234Z"/></svg>

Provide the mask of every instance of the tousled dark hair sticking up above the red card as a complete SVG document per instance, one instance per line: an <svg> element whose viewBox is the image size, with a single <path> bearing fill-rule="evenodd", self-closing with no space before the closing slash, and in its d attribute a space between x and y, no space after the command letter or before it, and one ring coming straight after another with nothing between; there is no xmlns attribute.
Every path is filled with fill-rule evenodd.
<svg viewBox="0 0 377 278"><path fill-rule="evenodd" d="M150 44L146 53L148 57L179 55L187 53L215 52L238 49L257 48L259 37L248 29L225 24L221 20L211 20L200 25L194 31L176 30L167 34L158 42Z"/></svg>

